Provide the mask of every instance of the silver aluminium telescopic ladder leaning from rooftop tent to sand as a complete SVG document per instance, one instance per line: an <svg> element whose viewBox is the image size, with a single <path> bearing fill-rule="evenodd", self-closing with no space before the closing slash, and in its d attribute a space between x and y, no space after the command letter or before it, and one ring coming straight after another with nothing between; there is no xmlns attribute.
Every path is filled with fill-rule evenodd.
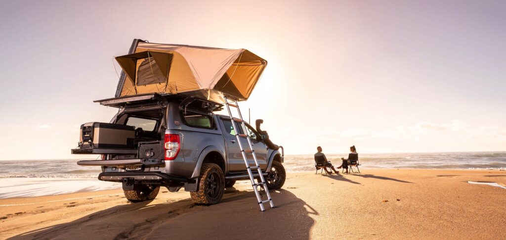
<svg viewBox="0 0 506 240"><path fill-rule="evenodd" d="M235 137L237 138L237 143L239 144L239 149L241 149L242 158L244 159L244 164L246 165L246 170L248 171L249 180L251 181L251 185L253 186L253 190L255 191L255 195L257 196L258 204L260 205L260 210L265 211L264 203L269 202L271 208L274 208L274 203L272 202L271 194L269 193L269 189L267 188L267 183L264 178L264 174L262 173L262 169L260 169L260 164L258 163L257 154L255 153L255 149L253 149L253 144L249 139L249 136L246 134L240 134L238 128L236 127L236 122L241 123L242 132L246 133L246 126L244 125L244 120L242 119L241 110L239 109L239 105L236 99L233 99L233 102L229 102L227 97L225 98L225 105L227 106L228 114L230 115L230 121L232 122L232 128L235 131ZM230 99L232 100L232 99ZM230 111L230 107L237 108L237 112L239 113L239 118L234 118L232 116L232 112ZM246 138L248 141L249 149L244 149L241 144L241 138ZM248 159L246 157L246 152L250 152L253 155L253 159L255 161L255 166L249 166ZM251 169L256 169L258 171L258 175L260 178L260 182L255 181L255 177L251 172ZM258 187L262 187L267 195L266 200L262 200L261 193L258 190Z"/></svg>

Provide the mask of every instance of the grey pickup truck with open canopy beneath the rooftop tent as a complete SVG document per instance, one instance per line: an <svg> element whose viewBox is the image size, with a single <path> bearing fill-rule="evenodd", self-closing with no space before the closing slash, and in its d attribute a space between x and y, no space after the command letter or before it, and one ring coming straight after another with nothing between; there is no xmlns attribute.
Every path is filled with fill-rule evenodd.
<svg viewBox="0 0 506 240"><path fill-rule="evenodd" d="M168 94L95 102L118 112L110 123L81 125L79 144L71 151L101 154L101 160L77 164L100 166L98 179L121 182L129 201L154 199L163 186L171 192L184 187L197 204L217 204L226 187L249 179L231 118L214 113L223 104ZM283 148L266 144L261 130L246 127L246 133L239 128L239 134L250 138L268 188L281 188L286 177ZM245 137L240 141L247 146ZM246 155L255 166L251 153Z"/></svg>

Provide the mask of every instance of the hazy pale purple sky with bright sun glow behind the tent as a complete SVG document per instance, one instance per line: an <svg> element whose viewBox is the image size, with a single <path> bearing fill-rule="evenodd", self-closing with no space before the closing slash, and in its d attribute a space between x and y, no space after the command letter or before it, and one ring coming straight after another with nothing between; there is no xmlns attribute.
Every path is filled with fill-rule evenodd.
<svg viewBox="0 0 506 240"><path fill-rule="evenodd" d="M243 112L287 154L506 150L504 1L0 1L0 159L109 122L134 38L269 64ZM247 115L247 114L246 114Z"/></svg>

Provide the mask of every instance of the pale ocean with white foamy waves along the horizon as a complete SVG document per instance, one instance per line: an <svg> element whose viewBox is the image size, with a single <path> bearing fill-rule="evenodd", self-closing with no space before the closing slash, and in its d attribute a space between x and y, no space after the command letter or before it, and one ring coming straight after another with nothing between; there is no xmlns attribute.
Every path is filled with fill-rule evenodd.
<svg viewBox="0 0 506 240"><path fill-rule="evenodd" d="M340 165L348 153L326 154ZM506 151L359 153L360 169L506 170ZM75 159L0 161L0 198L30 197L121 188L97 179L100 167L81 167ZM314 171L312 154L286 155L286 171Z"/></svg>

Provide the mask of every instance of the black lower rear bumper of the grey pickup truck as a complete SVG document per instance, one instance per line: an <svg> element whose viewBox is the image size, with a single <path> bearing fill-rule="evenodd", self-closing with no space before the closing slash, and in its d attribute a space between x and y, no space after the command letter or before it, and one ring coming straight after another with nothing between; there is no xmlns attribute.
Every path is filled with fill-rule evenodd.
<svg viewBox="0 0 506 240"><path fill-rule="evenodd" d="M175 177L160 172L104 172L98 175L98 180L121 182L123 179L133 178L138 181L173 181L188 182L188 179Z"/></svg>

